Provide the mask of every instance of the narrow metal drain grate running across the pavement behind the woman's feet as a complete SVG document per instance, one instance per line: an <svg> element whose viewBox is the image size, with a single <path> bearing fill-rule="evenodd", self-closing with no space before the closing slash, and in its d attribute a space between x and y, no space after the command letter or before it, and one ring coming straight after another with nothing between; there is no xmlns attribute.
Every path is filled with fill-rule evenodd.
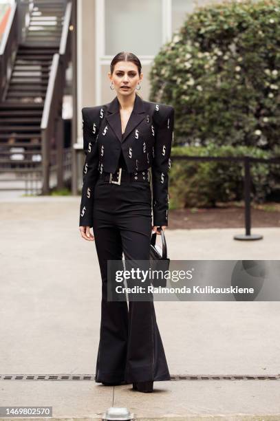
<svg viewBox="0 0 280 421"><path fill-rule="evenodd" d="M95 374L0 374L0 380L91 380L95 381ZM241 376L229 375L171 375L171 380L280 380L280 374L266 376L252 376L251 374Z"/></svg>

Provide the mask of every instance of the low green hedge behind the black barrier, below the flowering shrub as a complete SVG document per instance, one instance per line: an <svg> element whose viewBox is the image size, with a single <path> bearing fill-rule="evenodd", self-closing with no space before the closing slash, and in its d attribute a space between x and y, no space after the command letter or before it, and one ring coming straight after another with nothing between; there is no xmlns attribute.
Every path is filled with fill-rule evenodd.
<svg viewBox="0 0 280 421"><path fill-rule="evenodd" d="M170 208L213 207L217 202L244 199L244 164L233 161L175 160L176 155L241 156L272 158L272 153L254 147L173 147L169 172ZM252 163L251 199L266 201L272 191L280 192L280 164Z"/></svg>

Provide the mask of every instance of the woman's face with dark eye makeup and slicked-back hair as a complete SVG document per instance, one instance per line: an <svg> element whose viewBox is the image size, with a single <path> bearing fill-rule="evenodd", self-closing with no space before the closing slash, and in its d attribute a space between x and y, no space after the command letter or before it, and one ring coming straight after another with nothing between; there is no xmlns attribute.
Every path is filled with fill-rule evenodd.
<svg viewBox="0 0 280 421"><path fill-rule="evenodd" d="M117 94L129 96L135 91L143 74L138 74L138 67L131 61L119 61L114 67L113 74L108 73L108 76Z"/></svg>

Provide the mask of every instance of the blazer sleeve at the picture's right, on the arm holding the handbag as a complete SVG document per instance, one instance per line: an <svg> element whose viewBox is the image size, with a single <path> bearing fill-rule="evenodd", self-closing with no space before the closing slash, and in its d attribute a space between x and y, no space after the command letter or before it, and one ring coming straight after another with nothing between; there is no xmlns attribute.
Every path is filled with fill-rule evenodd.
<svg viewBox="0 0 280 421"><path fill-rule="evenodd" d="M169 168L173 142L174 108L167 106L155 135L152 172L153 226L168 226Z"/></svg>

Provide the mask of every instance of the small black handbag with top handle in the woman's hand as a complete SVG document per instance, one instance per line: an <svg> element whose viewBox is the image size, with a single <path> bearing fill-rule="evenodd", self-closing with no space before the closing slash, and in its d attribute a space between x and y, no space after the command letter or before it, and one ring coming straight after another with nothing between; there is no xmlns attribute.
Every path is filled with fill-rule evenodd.
<svg viewBox="0 0 280 421"><path fill-rule="evenodd" d="M162 228L158 228L158 230L161 233L161 238L162 238L162 255L160 254L160 252L158 252L158 250L155 248L155 241L156 238L158 236L157 233L153 233L153 235L151 236L151 244L150 244L150 266L152 270L160 270L163 272L165 270L169 270L169 263L170 263L170 259L167 257L167 247L166 247L166 240L165 240L165 236L164 236L164 230L162 230ZM166 287L166 277L164 276L159 276L159 277L151 277L151 283L153 284L154 287L158 288L158 287Z"/></svg>

